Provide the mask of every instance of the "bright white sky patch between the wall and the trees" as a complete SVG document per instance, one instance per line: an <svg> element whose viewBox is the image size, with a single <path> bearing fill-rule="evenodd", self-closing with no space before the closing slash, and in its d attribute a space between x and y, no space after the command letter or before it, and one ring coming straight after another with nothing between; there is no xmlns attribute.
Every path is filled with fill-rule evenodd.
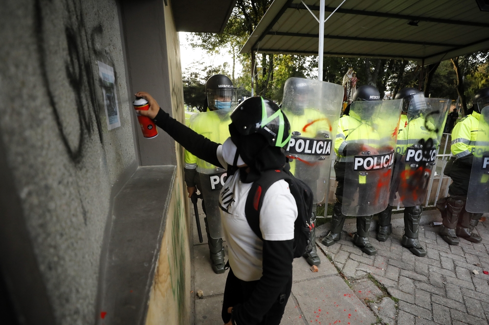
<svg viewBox="0 0 489 325"><path fill-rule="evenodd" d="M212 66L218 66L222 65L224 62L227 62L229 64L229 74L231 74L231 68L233 65L233 58L232 56L227 53L225 49L219 51L218 54L207 54L207 52L197 49L197 48L192 48L190 44L187 42L187 35L190 33L186 32L179 32L178 37L180 39L180 58L181 58L181 65L182 65L182 73L192 65L194 62L199 62L202 61L203 65L212 65ZM241 71L243 69L243 66L236 61L236 67L235 67L235 76L239 76L241 74ZM231 76L229 76L231 77Z"/></svg>

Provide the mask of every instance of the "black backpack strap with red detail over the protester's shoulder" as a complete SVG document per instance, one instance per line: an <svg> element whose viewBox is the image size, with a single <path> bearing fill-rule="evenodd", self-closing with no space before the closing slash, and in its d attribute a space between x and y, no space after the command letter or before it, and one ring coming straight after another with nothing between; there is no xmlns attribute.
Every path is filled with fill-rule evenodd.
<svg viewBox="0 0 489 325"><path fill-rule="evenodd" d="M262 209L265 193L267 193L268 188L276 181L281 179L288 180L289 178L289 174L283 170L268 170L263 172L260 179L251 185L251 189L246 197L246 203L244 204L244 214L251 230L262 240L260 210Z"/></svg>

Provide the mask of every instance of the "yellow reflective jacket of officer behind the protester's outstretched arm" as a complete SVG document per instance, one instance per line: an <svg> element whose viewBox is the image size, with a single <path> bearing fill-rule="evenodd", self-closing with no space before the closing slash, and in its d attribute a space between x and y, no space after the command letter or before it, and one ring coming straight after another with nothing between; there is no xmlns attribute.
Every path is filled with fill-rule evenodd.
<svg viewBox="0 0 489 325"><path fill-rule="evenodd" d="M229 115L225 119L222 119L220 115L209 114L210 110L204 113L197 113L192 116L190 120L190 129L196 131L197 133L205 136L209 140L217 143L224 143L229 135L229 124L231 124L231 119ZM185 150L185 168L187 169L213 169L216 166L209 164L208 162L197 158L192 153Z"/></svg>

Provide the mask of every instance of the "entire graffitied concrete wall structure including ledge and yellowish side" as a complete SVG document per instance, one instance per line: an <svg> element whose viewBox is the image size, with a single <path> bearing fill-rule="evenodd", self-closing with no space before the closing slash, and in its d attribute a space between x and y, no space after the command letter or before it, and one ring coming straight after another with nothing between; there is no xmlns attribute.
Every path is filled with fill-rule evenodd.
<svg viewBox="0 0 489 325"><path fill-rule="evenodd" d="M184 121L170 1L6 0L0 39L0 272L21 323L123 324L124 317L141 320L133 324L189 323L183 149L161 130L144 139L131 106L132 93L146 90ZM113 130L98 62L115 73L121 126ZM148 261L129 239L118 243L141 234L148 241L144 218L138 223L131 209L114 206L118 193L137 206L127 191L153 171L140 165L177 166L171 180L155 180L167 179L158 186L169 194L160 189L163 203L151 211L162 227L148 230L157 238L144 242ZM167 167L160 169L174 170ZM124 263L144 285L126 281ZM131 290L121 293L117 279Z"/></svg>

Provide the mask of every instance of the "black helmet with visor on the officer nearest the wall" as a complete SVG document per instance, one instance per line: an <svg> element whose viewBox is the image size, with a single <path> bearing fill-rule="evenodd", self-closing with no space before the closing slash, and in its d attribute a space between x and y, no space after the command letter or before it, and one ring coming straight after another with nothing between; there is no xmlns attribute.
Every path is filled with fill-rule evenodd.
<svg viewBox="0 0 489 325"><path fill-rule="evenodd" d="M222 74L215 74L207 79L205 95L207 107L211 110L233 108L238 105L236 87L233 86L231 79Z"/></svg>

